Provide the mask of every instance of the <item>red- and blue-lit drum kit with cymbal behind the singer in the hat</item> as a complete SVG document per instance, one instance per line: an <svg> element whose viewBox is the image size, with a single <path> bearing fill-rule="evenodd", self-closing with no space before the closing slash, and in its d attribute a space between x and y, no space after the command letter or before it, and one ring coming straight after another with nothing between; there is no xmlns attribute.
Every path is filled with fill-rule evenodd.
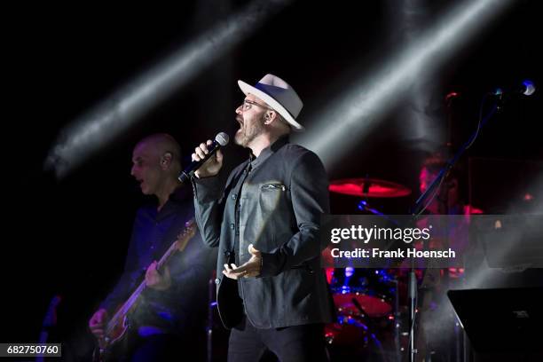
<svg viewBox="0 0 543 362"><path fill-rule="evenodd" d="M334 180L329 191L356 196L361 199L359 210L380 216L384 214L371 208L368 199L411 194L404 185L368 177ZM405 281L387 269L335 268L327 275L337 315L325 328L330 359L400 360L399 301L405 296Z"/></svg>

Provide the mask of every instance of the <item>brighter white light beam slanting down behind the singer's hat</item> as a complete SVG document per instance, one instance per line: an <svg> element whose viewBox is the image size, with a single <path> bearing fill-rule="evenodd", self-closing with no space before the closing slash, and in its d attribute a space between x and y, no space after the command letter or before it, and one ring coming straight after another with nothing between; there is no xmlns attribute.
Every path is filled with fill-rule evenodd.
<svg viewBox="0 0 543 362"><path fill-rule="evenodd" d="M318 153L325 165L334 164L355 144L364 142L421 75L451 59L511 3L478 0L456 5L405 49L385 57L390 61L383 67L367 72L370 76L328 104L310 130L297 135L295 141Z"/></svg>

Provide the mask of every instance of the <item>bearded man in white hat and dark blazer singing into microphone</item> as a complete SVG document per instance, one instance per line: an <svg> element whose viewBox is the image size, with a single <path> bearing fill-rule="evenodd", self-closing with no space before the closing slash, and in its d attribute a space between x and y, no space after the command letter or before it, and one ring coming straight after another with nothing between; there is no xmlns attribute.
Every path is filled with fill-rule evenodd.
<svg viewBox="0 0 543 362"><path fill-rule="evenodd" d="M326 360L323 328L334 317L320 268L319 217L329 212L327 173L319 157L290 144L302 100L275 75L251 86L235 110L235 143L248 161L224 181L223 153L194 172L196 221L218 247L218 310L232 328L229 361L256 361L271 350L280 361ZM209 140L193 161L209 153Z"/></svg>

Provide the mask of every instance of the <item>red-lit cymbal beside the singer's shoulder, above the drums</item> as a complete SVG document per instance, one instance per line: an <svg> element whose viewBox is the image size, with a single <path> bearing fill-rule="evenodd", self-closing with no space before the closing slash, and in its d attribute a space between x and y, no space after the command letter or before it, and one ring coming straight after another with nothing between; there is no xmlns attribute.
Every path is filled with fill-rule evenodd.
<svg viewBox="0 0 543 362"><path fill-rule="evenodd" d="M411 190L404 185L380 180L377 178L343 178L330 182L328 189L332 193L360 197L402 197L411 194Z"/></svg>

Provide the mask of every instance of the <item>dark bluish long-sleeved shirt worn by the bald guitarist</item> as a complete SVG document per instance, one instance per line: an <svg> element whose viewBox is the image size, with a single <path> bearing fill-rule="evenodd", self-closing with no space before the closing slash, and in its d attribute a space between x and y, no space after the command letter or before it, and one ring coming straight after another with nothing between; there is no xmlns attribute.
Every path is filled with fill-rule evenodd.
<svg viewBox="0 0 543 362"><path fill-rule="evenodd" d="M106 308L110 317L145 279L149 264L160 260L179 232L185 230L185 222L192 218L192 193L188 187L177 188L160 211L156 205L138 209L122 277L100 305ZM130 314L130 325L158 327L162 331L179 333L198 323L196 319L202 318L208 302L212 259L209 249L201 245L200 232L197 231L185 251L169 260L171 287L165 291L146 288L138 307Z"/></svg>

